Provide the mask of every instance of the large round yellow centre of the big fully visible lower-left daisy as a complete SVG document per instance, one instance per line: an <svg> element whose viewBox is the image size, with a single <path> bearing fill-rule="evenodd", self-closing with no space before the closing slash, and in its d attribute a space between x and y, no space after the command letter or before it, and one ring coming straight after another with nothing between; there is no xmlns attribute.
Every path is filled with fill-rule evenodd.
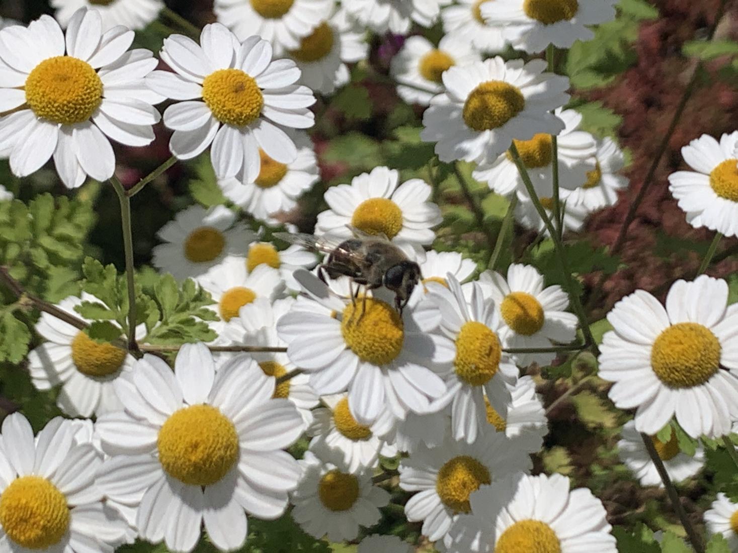
<svg viewBox="0 0 738 553"><path fill-rule="evenodd" d="M193 405L175 411L156 440L159 462L185 484L209 486L223 478L238 460L238 434L217 408Z"/></svg>

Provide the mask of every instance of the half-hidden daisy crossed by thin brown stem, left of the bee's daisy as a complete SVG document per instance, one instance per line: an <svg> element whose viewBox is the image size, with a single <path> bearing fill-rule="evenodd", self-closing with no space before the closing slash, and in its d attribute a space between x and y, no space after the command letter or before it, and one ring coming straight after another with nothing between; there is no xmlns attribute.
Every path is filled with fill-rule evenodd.
<svg viewBox="0 0 738 553"><path fill-rule="evenodd" d="M230 319L224 329L224 337L230 344L244 346L284 347L286 344L277 335L277 321L294 305L293 298L277 299L273 304L266 297L255 299L238 310L238 316ZM276 384L276 379L297 369L286 353L252 352L254 359L265 375L275 378L274 397L290 400L307 428L313 422L312 408L319 398L308 383L308 375L295 375L285 382Z"/></svg>

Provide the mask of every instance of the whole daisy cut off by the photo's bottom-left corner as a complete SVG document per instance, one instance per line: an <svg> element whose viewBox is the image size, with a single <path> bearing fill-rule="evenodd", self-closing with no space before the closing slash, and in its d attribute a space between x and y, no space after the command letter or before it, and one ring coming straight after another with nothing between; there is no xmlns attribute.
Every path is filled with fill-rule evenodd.
<svg viewBox="0 0 738 553"><path fill-rule="evenodd" d="M0 549L3 552L113 553L127 525L94 485L103 459L76 445L61 417L33 437L20 413L0 434Z"/></svg>

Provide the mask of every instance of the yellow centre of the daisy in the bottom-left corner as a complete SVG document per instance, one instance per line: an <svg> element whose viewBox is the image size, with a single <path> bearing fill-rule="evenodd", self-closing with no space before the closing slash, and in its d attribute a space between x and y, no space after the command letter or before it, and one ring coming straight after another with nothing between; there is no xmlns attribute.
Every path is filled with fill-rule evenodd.
<svg viewBox="0 0 738 553"><path fill-rule="evenodd" d="M69 529L66 497L41 476L21 476L0 495L0 525L18 545L46 549Z"/></svg>

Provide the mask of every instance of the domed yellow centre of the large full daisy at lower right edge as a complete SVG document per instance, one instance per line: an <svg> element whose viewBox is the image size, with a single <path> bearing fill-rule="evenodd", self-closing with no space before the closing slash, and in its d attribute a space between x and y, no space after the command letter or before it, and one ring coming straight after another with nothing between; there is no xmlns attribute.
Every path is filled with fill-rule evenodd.
<svg viewBox="0 0 738 553"><path fill-rule="evenodd" d="M702 324L672 324L654 341L651 366L666 386L692 388L718 371L721 349L720 341Z"/></svg>

